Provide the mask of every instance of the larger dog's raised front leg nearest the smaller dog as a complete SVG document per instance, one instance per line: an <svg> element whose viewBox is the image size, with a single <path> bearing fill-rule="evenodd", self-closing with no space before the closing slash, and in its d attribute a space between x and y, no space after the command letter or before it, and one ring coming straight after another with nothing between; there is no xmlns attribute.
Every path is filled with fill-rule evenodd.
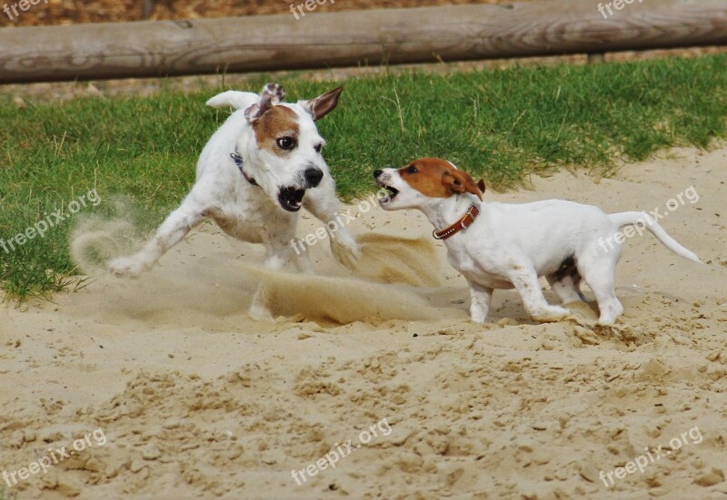
<svg viewBox="0 0 727 500"><path fill-rule="evenodd" d="M361 257L358 244L346 229L353 219L351 215L339 213L340 203L335 197L335 182L325 175L321 184L305 194L303 205L315 218L324 222L328 230L331 252L335 258L349 269L354 269L356 260Z"/></svg>

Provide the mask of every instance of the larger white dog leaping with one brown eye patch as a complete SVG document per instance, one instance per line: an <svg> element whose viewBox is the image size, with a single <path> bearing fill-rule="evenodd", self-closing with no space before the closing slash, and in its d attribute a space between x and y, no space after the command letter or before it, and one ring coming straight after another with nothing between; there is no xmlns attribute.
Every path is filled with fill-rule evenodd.
<svg viewBox="0 0 727 500"><path fill-rule="evenodd" d="M338 217L335 182L315 122L334 110L342 91L339 87L310 101L282 103L283 88L270 83L261 94L229 91L210 99L209 106L237 111L204 147L192 191L142 250L112 260L110 271L139 276L206 218L238 240L263 243L266 269L284 268L294 260L289 242L301 207L326 223ZM330 244L338 260L354 266L360 251L344 227ZM300 271L313 271L307 252L295 262Z"/></svg>

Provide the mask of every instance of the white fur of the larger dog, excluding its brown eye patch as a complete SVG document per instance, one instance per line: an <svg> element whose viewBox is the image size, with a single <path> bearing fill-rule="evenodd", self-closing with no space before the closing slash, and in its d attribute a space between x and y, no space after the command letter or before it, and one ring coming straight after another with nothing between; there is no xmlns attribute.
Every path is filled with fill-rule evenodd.
<svg viewBox="0 0 727 500"><path fill-rule="evenodd" d="M271 86L268 85L268 88ZM213 107L232 106L237 111L204 146L192 191L142 250L109 263L113 274L132 278L139 276L206 218L212 218L222 230L238 240L264 244L267 251L265 268L284 268L294 259L290 241L295 237L298 213L285 211L277 199L278 193L285 187L306 187L304 172L312 167L324 172L324 177L317 187L305 191L303 206L321 221L335 220L339 210L335 182L323 156L315 151L315 146L324 143L324 140L315 126L309 102L281 104L295 112L300 128L298 147L285 157L257 147L245 110L259 103L261 95L234 91L220 93L207 102ZM246 181L230 157L235 147L243 157L245 173L259 186ZM353 266L360 252L348 231L340 228L330 241L336 258L348 267ZM298 270L312 272L305 252L296 264ZM264 311L258 310L254 304L251 314L264 316Z"/></svg>

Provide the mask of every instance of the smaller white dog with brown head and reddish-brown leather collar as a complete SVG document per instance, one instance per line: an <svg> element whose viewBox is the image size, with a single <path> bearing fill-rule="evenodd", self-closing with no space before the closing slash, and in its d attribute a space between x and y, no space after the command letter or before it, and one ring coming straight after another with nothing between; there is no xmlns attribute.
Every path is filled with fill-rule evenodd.
<svg viewBox="0 0 727 500"><path fill-rule="evenodd" d="M538 283L545 276L563 303L583 300L583 277L598 302L599 323L612 325L623 312L614 292L622 244L605 249L599 240L619 241L613 235L624 226L641 224L677 255L700 262L642 211L608 215L562 200L486 203L483 181L476 184L453 163L435 158L377 170L373 176L391 192L380 200L384 210L416 209L432 222L450 264L467 279L470 315L478 323L487 318L493 289L517 289L533 319L568 316L568 309L545 300Z"/></svg>

